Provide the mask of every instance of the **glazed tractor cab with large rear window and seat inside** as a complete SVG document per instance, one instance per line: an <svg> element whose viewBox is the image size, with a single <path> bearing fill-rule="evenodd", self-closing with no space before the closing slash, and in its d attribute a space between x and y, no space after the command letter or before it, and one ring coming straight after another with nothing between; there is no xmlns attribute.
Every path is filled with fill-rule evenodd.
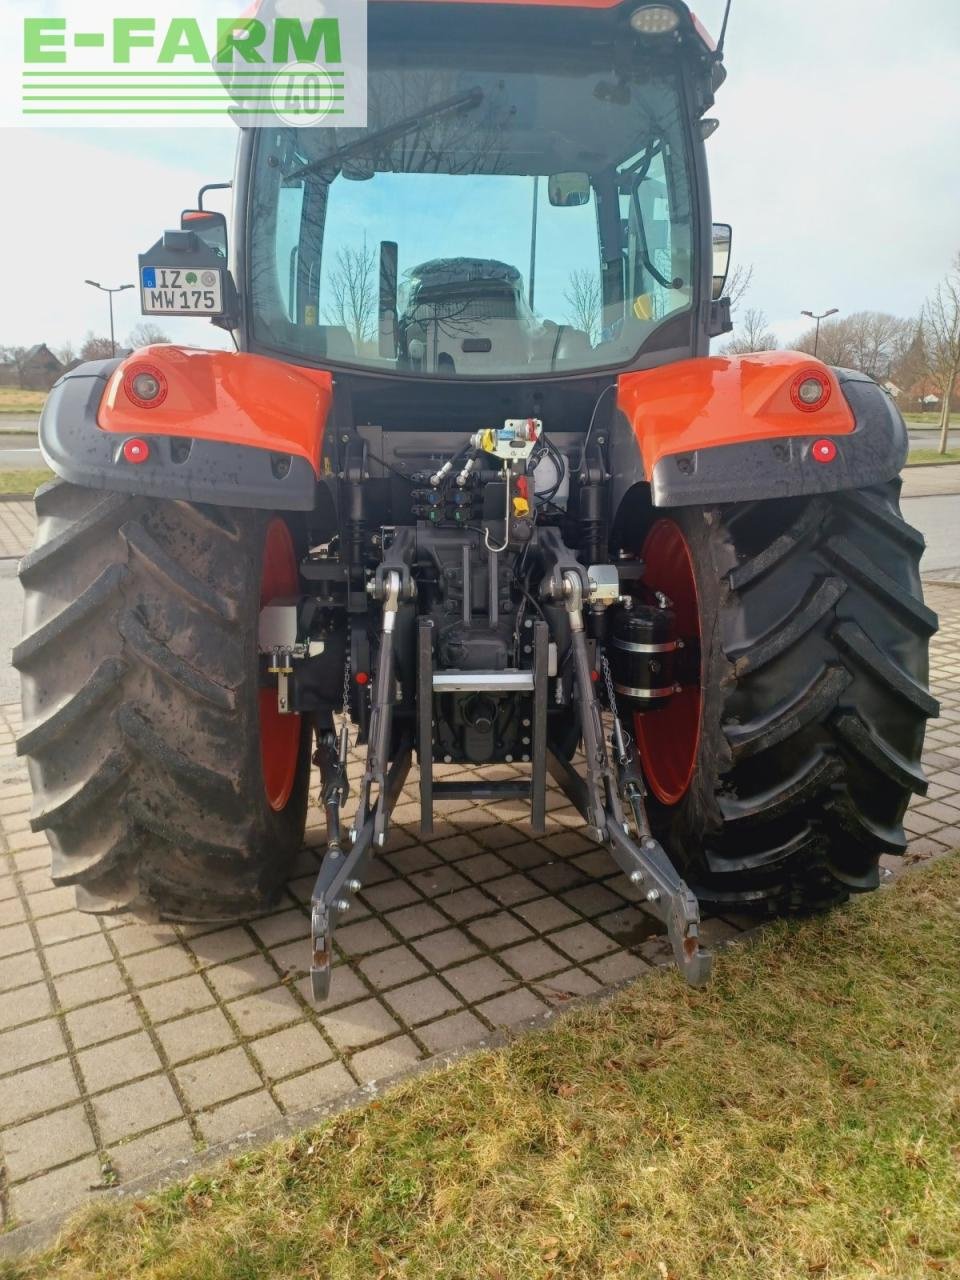
<svg viewBox="0 0 960 1280"><path fill-rule="evenodd" d="M244 136L244 344L457 380L704 353L722 69L652 8L371 5L367 128Z"/></svg>

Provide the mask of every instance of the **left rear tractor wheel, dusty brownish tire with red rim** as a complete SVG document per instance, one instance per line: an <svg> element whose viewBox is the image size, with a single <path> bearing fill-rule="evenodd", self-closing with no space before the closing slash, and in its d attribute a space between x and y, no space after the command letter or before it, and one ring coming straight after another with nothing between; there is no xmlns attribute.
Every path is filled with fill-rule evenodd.
<svg viewBox="0 0 960 1280"><path fill-rule="evenodd" d="M83 910L238 919L270 906L306 820L306 717L260 689L265 595L298 590L268 512L54 480L20 563L31 826ZM283 721L283 723L278 723Z"/></svg>

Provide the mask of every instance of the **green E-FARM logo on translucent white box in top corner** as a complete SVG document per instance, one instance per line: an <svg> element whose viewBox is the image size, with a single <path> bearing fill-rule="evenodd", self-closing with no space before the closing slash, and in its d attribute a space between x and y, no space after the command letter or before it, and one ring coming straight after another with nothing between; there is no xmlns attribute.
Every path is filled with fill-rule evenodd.
<svg viewBox="0 0 960 1280"><path fill-rule="evenodd" d="M160 13L118 0L23 14L19 100L3 76L0 123L366 124L365 0L261 0L243 14L234 4L177 0Z"/></svg>

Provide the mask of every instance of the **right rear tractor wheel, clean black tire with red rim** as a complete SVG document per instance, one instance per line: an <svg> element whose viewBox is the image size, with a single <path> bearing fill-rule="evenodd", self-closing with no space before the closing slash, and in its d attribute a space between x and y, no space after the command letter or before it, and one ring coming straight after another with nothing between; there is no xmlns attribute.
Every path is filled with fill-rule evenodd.
<svg viewBox="0 0 960 1280"><path fill-rule="evenodd" d="M692 618L700 640L699 691L636 717L650 817L717 909L828 906L876 888L879 856L905 850L904 812L927 790L924 723L938 713L937 617L899 494L895 480L676 509L646 534L646 581L680 596L681 634Z"/></svg>

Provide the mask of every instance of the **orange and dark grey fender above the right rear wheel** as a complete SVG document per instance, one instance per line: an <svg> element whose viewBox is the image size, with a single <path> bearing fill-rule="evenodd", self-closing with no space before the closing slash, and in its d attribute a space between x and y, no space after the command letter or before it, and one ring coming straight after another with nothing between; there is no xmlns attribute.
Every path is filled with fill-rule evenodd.
<svg viewBox="0 0 960 1280"><path fill-rule="evenodd" d="M788 394L806 370L831 387L815 412L795 408ZM671 371L672 387L664 380ZM909 447L904 420L872 378L827 369L799 352L684 361L627 374L618 408L614 509L639 480L649 480L655 507L863 488L899 475ZM833 447L828 461L813 452L823 440Z"/></svg>

